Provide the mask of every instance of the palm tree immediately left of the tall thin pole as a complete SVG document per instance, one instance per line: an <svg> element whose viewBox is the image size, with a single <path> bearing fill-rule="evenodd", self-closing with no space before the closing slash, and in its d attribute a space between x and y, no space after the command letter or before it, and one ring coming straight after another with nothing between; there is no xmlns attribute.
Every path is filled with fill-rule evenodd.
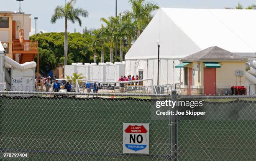
<svg viewBox="0 0 256 161"><path fill-rule="evenodd" d="M113 48L114 48L114 41L115 41L115 18L109 17L108 20L105 18L101 18L107 26L105 27L106 32L108 33L108 40L110 41L110 62L113 63Z"/></svg>

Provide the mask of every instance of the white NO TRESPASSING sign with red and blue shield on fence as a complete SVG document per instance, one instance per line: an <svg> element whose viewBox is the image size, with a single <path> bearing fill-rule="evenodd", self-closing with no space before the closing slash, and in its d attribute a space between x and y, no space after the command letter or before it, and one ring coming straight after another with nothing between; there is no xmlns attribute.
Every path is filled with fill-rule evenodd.
<svg viewBox="0 0 256 161"><path fill-rule="evenodd" d="M149 153L148 123L123 123L123 153Z"/></svg>

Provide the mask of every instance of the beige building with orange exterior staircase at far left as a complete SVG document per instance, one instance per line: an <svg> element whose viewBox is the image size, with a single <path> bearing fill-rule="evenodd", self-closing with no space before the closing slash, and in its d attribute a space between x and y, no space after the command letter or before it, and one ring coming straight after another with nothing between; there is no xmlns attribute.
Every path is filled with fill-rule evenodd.
<svg viewBox="0 0 256 161"><path fill-rule="evenodd" d="M7 44L5 54L20 64L33 61L38 54L37 41L29 40L30 16L25 13L0 12L0 41Z"/></svg>

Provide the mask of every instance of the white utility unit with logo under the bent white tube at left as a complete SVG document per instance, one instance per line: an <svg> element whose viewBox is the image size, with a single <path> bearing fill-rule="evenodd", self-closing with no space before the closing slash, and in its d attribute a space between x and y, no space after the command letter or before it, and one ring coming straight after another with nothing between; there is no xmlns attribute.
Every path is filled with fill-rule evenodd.
<svg viewBox="0 0 256 161"><path fill-rule="evenodd" d="M35 69L11 68L11 86L16 91L35 91Z"/></svg>

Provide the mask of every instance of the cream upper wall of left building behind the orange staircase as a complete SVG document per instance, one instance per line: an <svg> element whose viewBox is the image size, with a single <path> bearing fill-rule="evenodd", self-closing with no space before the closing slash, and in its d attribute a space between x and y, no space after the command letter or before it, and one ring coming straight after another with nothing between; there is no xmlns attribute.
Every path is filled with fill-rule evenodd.
<svg viewBox="0 0 256 161"><path fill-rule="evenodd" d="M13 14L13 20L16 21L16 39L19 38L17 21L21 22L20 29L24 29L24 39L29 40L29 33L31 31L31 18L29 14Z"/></svg>

